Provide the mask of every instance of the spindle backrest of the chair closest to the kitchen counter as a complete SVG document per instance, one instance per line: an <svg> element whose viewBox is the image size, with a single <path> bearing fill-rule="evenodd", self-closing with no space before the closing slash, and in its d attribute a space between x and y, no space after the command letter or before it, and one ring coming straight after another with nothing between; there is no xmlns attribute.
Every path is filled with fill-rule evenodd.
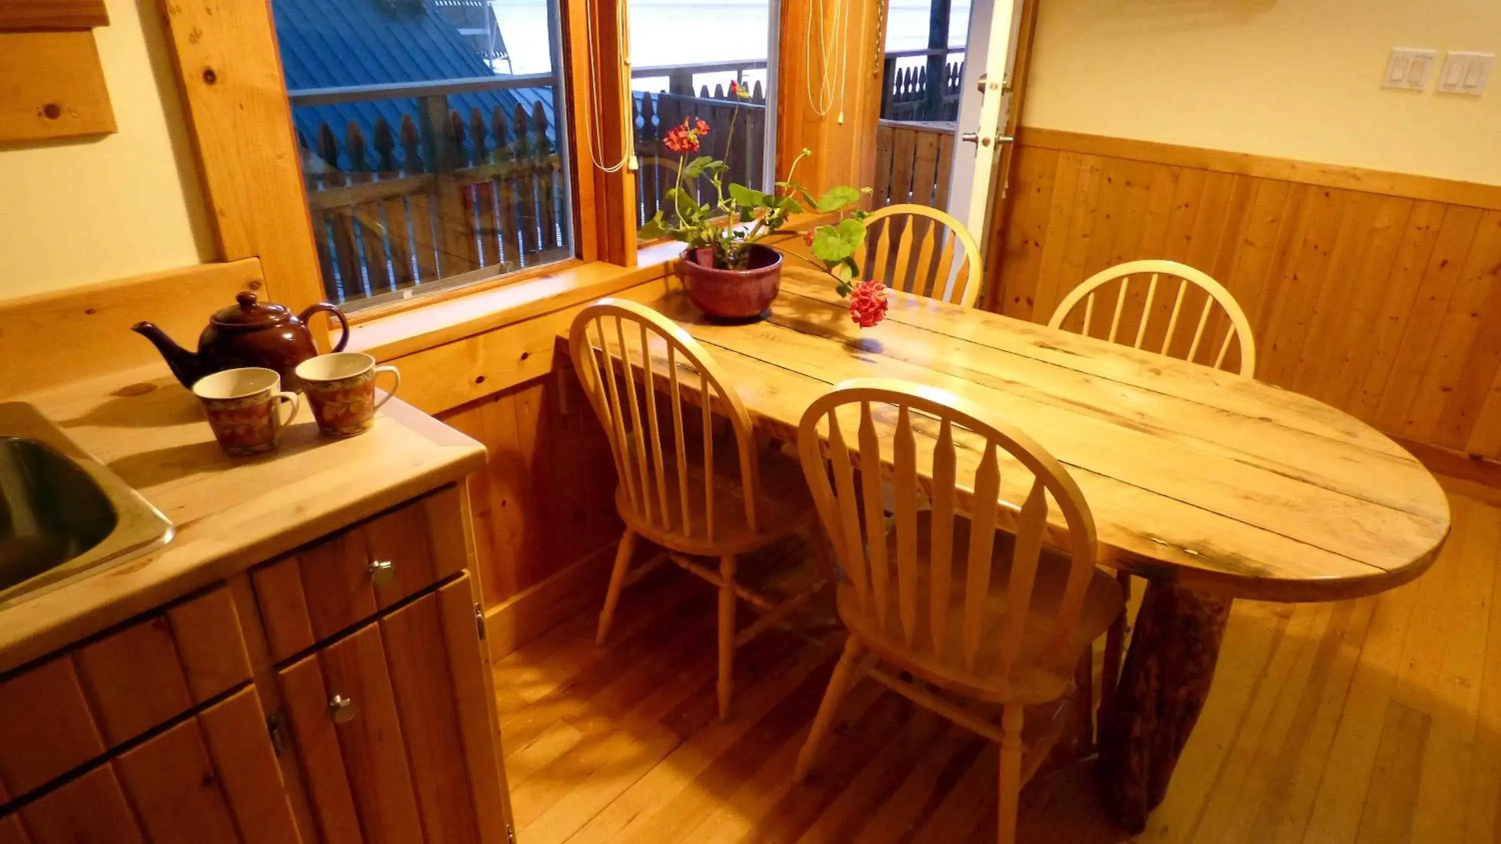
<svg viewBox="0 0 1501 844"><path fill-rule="evenodd" d="M639 522L684 538L714 540L716 522L723 519L714 513L717 411L734 436L744 523L757 529L750 414L698 340L644 304L602 298L573 318L569 351ZM663 388L665 394L657 393ZM699 412L684 412L684 397L696 399ZM659 418L663 414L671 418ZM701 484L690 481L689 466L701 466Z"/></svg>

